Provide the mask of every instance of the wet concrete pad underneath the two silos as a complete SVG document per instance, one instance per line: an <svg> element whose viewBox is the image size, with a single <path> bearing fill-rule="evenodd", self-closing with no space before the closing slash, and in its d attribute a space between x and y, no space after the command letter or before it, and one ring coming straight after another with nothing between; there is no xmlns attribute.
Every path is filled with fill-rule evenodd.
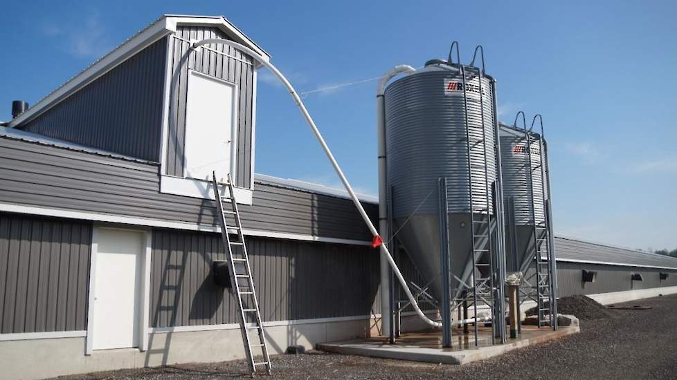
<svg viewBox="0 0 677 380"><path fill-rule="evenodd" d="M472 330L472 328L471 328ZM482 327L478 347L474 344L473 334L463 334L454 330L453 346L442 348L442 332L433 330L424 333L403 334L397 343L390 345L384 337L353 339L332 343L318 343L316 348L327 352L353 354L365 357L379 357L426 363L465 364L495 357L505 352L558 339L580 331L578 326L560 327L557 331L550 328L524 326L518 339L508 339L505 344L491 345L491 330Z"/></svg>

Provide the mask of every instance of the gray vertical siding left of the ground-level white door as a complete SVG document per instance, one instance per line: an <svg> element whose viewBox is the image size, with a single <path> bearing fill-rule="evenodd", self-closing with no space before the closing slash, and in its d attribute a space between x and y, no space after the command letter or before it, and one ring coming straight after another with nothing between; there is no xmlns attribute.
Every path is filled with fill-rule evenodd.
<svg viewBox="0 0 677 380"><path fill-rule="evenodd" d="M91 222L0 213L0 332L85 330Z"/></svg>

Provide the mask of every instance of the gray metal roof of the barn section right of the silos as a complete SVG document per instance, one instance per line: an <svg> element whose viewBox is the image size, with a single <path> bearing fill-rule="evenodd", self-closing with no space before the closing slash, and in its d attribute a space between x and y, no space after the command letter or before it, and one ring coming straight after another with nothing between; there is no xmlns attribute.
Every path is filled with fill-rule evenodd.
<svg viewBox="0 0 677 380"><path fill-rule="evenodd" d="M555 236L554 246L558 261L677 269L677 258L602 243L591 243L577 238Z"/></svg>

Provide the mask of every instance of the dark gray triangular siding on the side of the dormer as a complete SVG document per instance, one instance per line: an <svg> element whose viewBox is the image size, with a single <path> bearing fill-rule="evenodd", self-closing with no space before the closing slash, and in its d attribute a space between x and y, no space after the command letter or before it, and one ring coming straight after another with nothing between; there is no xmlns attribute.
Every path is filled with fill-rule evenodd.
<svg viewBox="0 0 677 380"><path fill-rule="evenodd" d="M167 39L18 128L159 162Z"/></svg>

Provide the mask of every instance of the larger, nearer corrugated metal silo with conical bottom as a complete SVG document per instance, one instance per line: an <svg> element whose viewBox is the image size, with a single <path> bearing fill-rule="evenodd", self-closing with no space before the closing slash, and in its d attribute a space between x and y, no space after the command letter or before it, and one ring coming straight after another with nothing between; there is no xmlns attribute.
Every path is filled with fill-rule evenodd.
<svg viewBox="0 0 677 380"><path fill-rule="evenodd" d="M467 115L460 66L446 61L428 61L424 68L392 82L384 95L392 229L398 231L397 237L418 271L426 281L432 281L431 292L437 300L442 295L438 180L446 177L449 183L452 296L458 297L459 292L467 288L462 283L472 286L470 191L473 191L476 235L489 235L487 212L494 213L491 207L491 184L496 181L493 79L485 75L480 84L479 70L466 68ZM471 137L472 184L466 119ZM486 158L482 143L486 144ZM476 252L478 250L487 254L476 254L477 260L487 262L487 238L476 240ZM477 275L487 276L486 273Z"/></svg>

